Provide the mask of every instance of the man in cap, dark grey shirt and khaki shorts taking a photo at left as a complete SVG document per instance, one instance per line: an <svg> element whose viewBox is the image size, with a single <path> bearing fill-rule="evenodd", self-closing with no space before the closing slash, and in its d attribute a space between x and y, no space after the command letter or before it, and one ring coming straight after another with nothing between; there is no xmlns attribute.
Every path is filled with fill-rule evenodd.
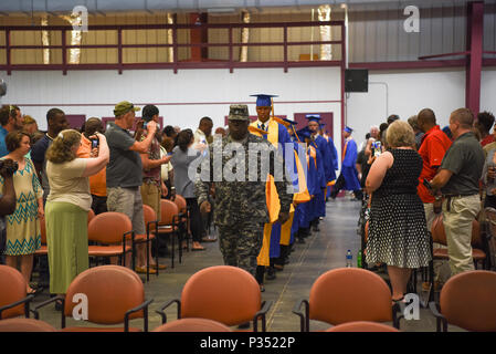
<svg viewBox="0 0 496 354"><path fill-rule="evenodd" d="M105 132L110 149L110 160L107 165L107 209L127 215L135 233L144 235L145 219L139 191L143 184L143 166L139 154L148 153L157 124L154 121L148 122L147 137L143 142L136 142L128 129L133 128L135 112L139 110L127 101L117 103L114 108L115 123L109 123ZM137 252L139 257L146 257L145 247ZM128 259L126 264L130 264Z"/></svg>

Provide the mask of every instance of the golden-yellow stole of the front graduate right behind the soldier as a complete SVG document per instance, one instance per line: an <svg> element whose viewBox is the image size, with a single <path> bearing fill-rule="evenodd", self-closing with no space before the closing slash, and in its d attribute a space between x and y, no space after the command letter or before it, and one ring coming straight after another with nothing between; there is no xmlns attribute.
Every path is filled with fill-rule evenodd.
<svg viewBox="0 0 496 354"><path fill-rule="evenodd" d="M277 148L278 136L279 136L278 124L274 119L270 119L267 126L268 126L267 142L270 142L272 145L274 145ZM253 122L252 124L250 124L250 127L252 127L252 129L251 129L252 134L262 137L262 134L260 132L257 132L260 129L257 127L256 122ZM256 128L256 131L254 128ZM274 176L271 176L271 175L268 175L267 183L265 184L265 198L266 198L266 204L267 204L270 222L265 223L265 226L264 226L264 238L263 238L263 242L262 242L262 249L260 250L258 257L256 258L256 263L258 266L268 267L271 264L270 250L271 250L272 225L275 221L277 221L277 219L279 217L279 210L281 210L281 201L279 201L279 196L277 195L277 189L275 187Z"/></svg>

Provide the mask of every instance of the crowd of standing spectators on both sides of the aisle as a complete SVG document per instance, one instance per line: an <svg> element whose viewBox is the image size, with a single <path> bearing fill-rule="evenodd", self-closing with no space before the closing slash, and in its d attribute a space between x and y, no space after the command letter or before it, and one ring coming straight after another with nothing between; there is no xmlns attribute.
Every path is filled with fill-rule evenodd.
<svg viewBox="0 0 496 354"><path fill-rule="evenodd" d="M49 256L34 264L39 285L64 294L88 268L89 210L123 212L134 231L143 235L143 205L160 216L160 199L181 195L190 212L192 250L204 250L201 242L215 241L209 236L213 210L199 207L189 174L193 160L213 143L212 119L202 117L194 132L171 125L160 129L157 106L145 106L140 119L136 119L137 111L131 103L120 102L114 110L115 121L106 127L101 118L91 117L81 129L71 129L65 113L51 108L48 131L40 132L36 121L23 116L18 106L0 110L1 208L10 214L8 222L0 222L2 262L18 268L28 284L33 253L41 247L40 222L46 226ZM440 215L450 269L435 262L436 288L450 274L473 269L472 221L483 217L484 208L496 209L496 129L489 133L494 119L488 112L475 117L469 110L458 108L441 129L434 112L424 108L408 122L390 115L367 134L356 158L365 191L366 260L388 266L393 300L403 298L412 269L431 261L429 232ZM218 127L215 134L225 136L226 129ZM9 176L4 166L17 170ZM15 208L8 202L13 191ZM137 272L146 272L147 259L149 271L155 272L151 249L137 246ZM166 244L159 243L158 249L159 256L169 252ZM129 259L126 264L131 264ZM27 291L36 289L28 285Z"/></svg>

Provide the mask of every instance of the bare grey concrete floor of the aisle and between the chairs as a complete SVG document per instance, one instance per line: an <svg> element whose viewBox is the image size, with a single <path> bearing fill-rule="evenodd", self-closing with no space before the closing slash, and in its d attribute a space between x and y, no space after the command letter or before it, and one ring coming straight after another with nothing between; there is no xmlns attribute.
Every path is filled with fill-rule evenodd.
<svg viewBox="0 0 496 354"><path fill-rule="evenodd" d="M272 300L274 303L267 315L267 331L297 332L299 331L299 317L292 313L297 299L308 299L314 281L324 272L346 266L345 257L348 249L355 257L360 248L360 237L357 235L357 220L360 202L351 201L348 197L337 198L327 202L327 217L320 222L320 231L306 239L305 244L295 244L295 251L289 257L289 263L284 271L277 272L277 278L265 281L266 291L262 293L263 300ZM170 268L170 259L161 259L161 263L169 268L160 272L159 277L151 275L145 283L147 299L154 299L149 309L149 329L161 324L160 316L155 313L165 302L179 298L181 289L188 278L194 272L210 266L223 264L219 250L219 242L203 243L205 251L186 252L182 263L176 262ZM177 259L176 259L177 261ZM382 274L382 277L387 277ZM144 275L141 275L145 279ZM35 280L35 279L34 279ZM420 289L420 288L419 288ZM49 299L48 290L38 294L34 303ZM169 321L176 319L176 308L167 311ZM41 320L44 320L60 329L60 312L51 304L41 311ZM72 319L67 319L67 325L81 325ZM141 327L143 320L134 320L133 325ZM312 321L310 330L325 330L329 325ZM407 332L434 332L435 319L426 309L420 310L420 320L402 320L402 331ZM450 326L450 331L460 329Z"/></svg>

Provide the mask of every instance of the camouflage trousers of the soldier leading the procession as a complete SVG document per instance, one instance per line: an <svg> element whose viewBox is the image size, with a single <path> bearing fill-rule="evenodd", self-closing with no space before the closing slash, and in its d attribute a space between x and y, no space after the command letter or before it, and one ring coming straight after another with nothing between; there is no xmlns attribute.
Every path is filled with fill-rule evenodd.
<svg viewBox="0 0 496 354"><path fill-rule="evenodd" d="M264 225L246 220L232 226L219 226L219 246L225 266L244 269L255 277L256 257L262 249Z"/></svg>

